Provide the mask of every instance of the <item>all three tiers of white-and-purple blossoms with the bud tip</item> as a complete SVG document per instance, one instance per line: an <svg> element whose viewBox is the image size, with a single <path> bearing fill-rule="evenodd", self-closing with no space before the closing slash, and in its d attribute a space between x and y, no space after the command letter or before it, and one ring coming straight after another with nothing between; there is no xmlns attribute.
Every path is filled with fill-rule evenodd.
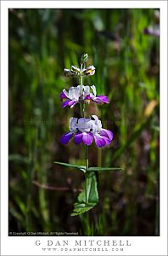
<svg viewBox="0 0 168 256"><path fill-rule="evenodd" d="M81 56L81 68L71 66L71 69L64 69L64 74L67 77L78 76L81 84L76 87L70 87L70 90L62 90L60 93L60 99L63 102L62 108L70 107L73 108L77 103L82 106L81 118L70 118L70 131L65 133L60 142L67 144L70 138L74 137L76 144L84 143L87 146L91 145L93 140L95 141L98 148L102 148L105 145L109 145L113 139L112 131L102 128L102 123L96 115L92 115L90 118L85 118L83 106L90 102L98 104L109 103L109 98L104 95L97 96L96 87L94 85L83 85L82 77L90 76L95 73L95 67L85 67L88 55L84 54Z"/></svg>

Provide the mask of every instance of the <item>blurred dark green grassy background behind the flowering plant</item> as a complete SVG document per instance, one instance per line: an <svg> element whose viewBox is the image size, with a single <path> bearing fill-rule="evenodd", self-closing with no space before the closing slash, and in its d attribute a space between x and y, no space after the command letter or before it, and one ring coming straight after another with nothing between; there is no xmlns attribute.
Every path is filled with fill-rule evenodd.
<svg viewBox="0 0 168 256"><path fill-rule="evenodd" d="M9 9L9 231L80 236L159 236L159 26L156 9ZM99 203L70 217L83 174L54 165L82 164L82 145L59 143L79 109L61 108L60 91L78 84L64 67L83 53L109 105L89 105L114 132L107 148L89 147Z"/></svg>

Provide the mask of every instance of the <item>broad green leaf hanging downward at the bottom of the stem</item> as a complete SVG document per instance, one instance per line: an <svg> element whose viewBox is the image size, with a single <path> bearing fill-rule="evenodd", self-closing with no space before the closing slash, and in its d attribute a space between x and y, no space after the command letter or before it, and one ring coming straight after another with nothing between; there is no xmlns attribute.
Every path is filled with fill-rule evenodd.
<svg viewBox="0 0 168 256"><path fill-rule="evenodd" d="M80 215L92 209L98 203L97 181L94 172L86 173L84 189L78 195L71 216Z"/></svg>

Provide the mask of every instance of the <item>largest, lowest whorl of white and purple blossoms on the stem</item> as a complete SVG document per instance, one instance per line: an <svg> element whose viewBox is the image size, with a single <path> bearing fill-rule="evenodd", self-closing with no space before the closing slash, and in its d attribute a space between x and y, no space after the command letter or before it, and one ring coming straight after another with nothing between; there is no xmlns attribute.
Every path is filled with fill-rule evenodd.
<svg viewBox="0 0 168 256"><path fill-rule="evenodd" d="M74 137L76 144L84 143L90 146L94 140L98 148L102 148L112 141L113 132L103 129L98 117L92 115L90 119L70 118L70 131L60 138L60 142L67 144L71 137Z"/></svg>

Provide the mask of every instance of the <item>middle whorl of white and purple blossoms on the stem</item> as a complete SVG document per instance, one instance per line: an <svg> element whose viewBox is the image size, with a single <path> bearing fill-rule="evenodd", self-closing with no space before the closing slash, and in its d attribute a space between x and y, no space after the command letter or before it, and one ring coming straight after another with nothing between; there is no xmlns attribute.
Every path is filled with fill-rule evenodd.
<svg viewBox="0 0 168 256"><path fill-rule="evenodd" d="M69 91L65 89L60 93L60 99L63 102L62 108L68 106L73 108L78 102L84 101L86 103L96 102L97 104L109 103L107 96L96 96L96 87L94 85L84 86L78 85L77 87L70 87Z"/></svg>

